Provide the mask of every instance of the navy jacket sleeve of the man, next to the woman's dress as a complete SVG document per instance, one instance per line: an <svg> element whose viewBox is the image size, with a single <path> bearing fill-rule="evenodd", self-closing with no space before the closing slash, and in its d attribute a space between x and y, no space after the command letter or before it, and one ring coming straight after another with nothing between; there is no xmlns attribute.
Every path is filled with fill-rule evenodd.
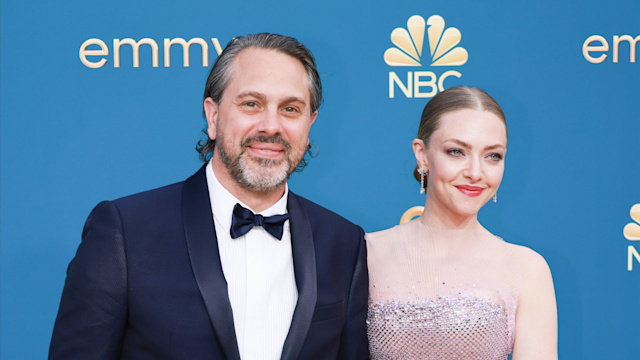
<svg viewBox="0 0 640 360"><path fill-rule="evenodd" d="M369 301L369 273L364 231L360 228L358 258L351 279L347 319L340 341L338 359L369 359L367 341L367 304Z"/></svg>

